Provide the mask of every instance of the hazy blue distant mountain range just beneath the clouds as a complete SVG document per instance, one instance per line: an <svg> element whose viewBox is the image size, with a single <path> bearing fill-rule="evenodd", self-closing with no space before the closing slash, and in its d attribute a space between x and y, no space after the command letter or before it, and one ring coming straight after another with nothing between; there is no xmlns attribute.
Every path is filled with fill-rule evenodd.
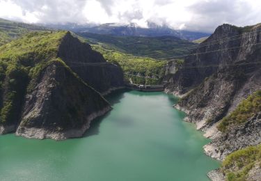
<svg viewBox="0 0 261 181"><path fill-rule="evenodd" d="M116 24L116 23L107 23L107 24L46 24L53 29L66 29L74 32L81 33L97 33L97 34L106 34L111 36L141 36L141 37L158 37L158 36L175 36L183 40L197 40L209 36L209 33L202 32L193 32L193 31L184 31L184 30L175 30L171 29L168 26L158 26L154 23L149 23L148 28L143 28L137 24Z"/></svg>

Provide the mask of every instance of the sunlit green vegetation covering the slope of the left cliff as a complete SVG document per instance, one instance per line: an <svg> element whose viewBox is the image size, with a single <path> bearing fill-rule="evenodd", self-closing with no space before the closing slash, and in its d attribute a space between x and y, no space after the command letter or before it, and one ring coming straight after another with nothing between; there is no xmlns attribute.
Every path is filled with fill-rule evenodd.
<svg viewBox="0 0 261 181"><path fill-rule="evenodd" d="M22 102L41 70L56 59L58 45L66 31L33 32L0 47L0 123L18 120Z"/></svg>

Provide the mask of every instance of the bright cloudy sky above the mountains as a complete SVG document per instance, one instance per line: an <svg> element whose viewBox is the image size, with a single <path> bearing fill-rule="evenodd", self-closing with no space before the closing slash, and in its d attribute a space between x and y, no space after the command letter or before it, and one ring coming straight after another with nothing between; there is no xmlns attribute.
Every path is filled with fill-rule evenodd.
<svg viewBox="0 0 261 181"><path fill-rule="evenodd" d="M0 17L29 23L147 22L212 32L261 22L260 0L0 0Z"/></svg>

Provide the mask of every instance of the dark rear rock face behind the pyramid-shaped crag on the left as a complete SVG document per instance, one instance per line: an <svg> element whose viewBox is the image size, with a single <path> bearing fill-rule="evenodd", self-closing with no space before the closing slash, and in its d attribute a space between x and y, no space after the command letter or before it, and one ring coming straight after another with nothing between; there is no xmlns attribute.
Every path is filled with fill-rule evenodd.
<svg viewBox="0 0 261 181"><path fill-rule="evenodd" d="M109 93L112 88L124 86L123 72L118 65L107 63L102 54L94 52L90 45L79 42L70 33L61 41L58 57L102 94Z"/></svg>

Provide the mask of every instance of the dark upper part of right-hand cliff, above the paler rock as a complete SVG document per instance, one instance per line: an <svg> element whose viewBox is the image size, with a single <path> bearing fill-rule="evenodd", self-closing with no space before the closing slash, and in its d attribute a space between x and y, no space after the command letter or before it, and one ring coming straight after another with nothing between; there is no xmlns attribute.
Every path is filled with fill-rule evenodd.
<svg viewBox="0 0 261 181"><path fill-rule="evenodd" d="M230 64L258 62L256 58L260 56L260 34L256 32L260 30L261 26L258 25L251 29L229 24L219 26L212 36L191 52L191 56L184 58L182 69L168 77L168 81L173 83L168 89L180 94L186 93L218 70L230 68Z"/></svg>

